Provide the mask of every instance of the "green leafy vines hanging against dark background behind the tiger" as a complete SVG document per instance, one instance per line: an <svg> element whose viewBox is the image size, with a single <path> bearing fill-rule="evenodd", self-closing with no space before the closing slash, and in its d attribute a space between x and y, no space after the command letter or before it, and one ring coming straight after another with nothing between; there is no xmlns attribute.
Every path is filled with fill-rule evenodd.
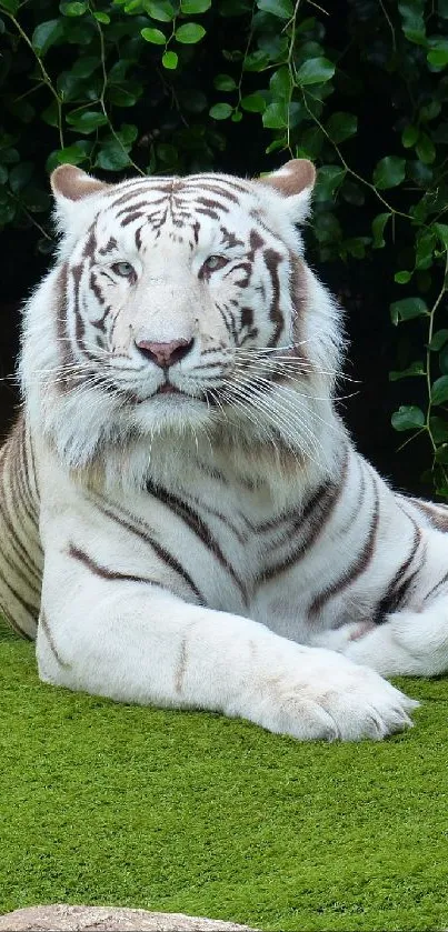
<svg viewBox="0 0 448 932"><path fill-rule="evenodd" d="M446 0L0 0L0 228L34 224L49 249L46 171L67 161L222 170L236 133L259 147L253 171L312 159L311 248L384 259L406 337L392 425L425 434L448 498Z"/></svg>

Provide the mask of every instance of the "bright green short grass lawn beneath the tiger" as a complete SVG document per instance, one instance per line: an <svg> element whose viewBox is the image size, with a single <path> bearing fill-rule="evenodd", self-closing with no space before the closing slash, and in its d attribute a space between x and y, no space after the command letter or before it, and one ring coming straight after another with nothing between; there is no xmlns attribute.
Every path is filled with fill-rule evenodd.
<svg viewBox="0 0 448 932"><path fill-rule="evenodd" d="M241 721L39 683L1 651L0 912L116 904L263 930L448 926L448 680L416 728L299 744Z"/></svg>

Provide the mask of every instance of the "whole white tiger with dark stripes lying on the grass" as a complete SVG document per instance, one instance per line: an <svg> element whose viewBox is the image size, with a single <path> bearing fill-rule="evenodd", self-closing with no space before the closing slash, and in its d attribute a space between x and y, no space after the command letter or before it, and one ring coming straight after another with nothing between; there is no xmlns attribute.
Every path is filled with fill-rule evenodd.
<svg viewBox="0 0 448 932"><path fill-rule="evenodd" d="M335 411L313 180L53 173L0 513L44 682L358 740L411 723L379 674L448 669L448 510L394 494Z"/></svg>

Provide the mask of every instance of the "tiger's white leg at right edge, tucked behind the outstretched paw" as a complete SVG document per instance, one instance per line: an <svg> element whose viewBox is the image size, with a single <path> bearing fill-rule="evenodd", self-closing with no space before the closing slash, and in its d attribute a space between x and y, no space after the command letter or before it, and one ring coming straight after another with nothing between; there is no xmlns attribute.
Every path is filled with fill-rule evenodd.
<svg viewBox="0 0 448 932"><path fill-rule="evenodd" d="M317 642L317 641L316 641ZM448 595L421 612L397 611L381 624L345 624L319 645L342 653L385 677L435 677L448 671Z"/></svg>

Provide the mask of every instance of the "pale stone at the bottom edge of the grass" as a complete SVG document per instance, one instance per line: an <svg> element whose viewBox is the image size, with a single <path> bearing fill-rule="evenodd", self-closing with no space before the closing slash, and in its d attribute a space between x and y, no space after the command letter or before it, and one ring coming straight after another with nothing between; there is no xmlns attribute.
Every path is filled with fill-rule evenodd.
<svg viewBox="0 0 448 932"><path fill-rule="evenodd" d="M152 913L118 906L29 906L0 915L0 932L238 932L220 919L201 919L183 913ZM252 930L253 932L253 930Z"/></svg>

